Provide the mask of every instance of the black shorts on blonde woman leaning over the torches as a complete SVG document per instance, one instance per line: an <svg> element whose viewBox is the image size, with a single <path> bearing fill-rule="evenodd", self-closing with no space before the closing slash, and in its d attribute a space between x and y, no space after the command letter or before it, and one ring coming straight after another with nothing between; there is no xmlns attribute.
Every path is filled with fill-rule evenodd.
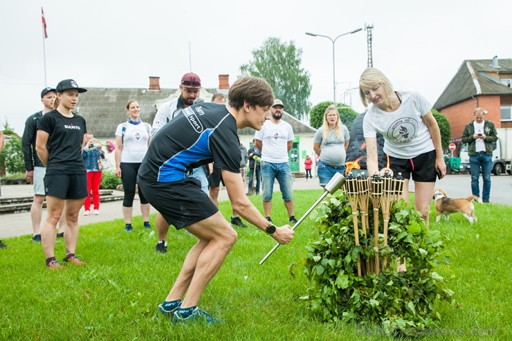
<svg viewBox="0 0 512 341"><path fill-rule="evenodd" d="M415 158L394 158L390 156L390 168L394 177L402 174L404 179L409 179L412 173L412 180L419 183L436 182L436 151L428 151Z"/></svg>

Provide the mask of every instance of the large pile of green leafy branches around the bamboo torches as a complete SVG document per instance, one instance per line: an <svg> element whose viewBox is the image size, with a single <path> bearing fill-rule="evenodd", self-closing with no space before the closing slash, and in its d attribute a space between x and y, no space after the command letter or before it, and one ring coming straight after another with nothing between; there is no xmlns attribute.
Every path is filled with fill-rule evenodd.
<svg viewBox="0 0 512 341"><path fill-rule="evenodd" d="M446 237L427 230L421 213L403 200L393 203L390 212L388 245L383 246L384 237L379 234L378 249L381 260L387 257L387 267L378 276L368 273L364 277L357 275L358 256L364 263L376 250L373 237L363 234L360 221L360 246L356 246L347 196L328 196L313 212L316 234L303 260L312 286L301 299L321 320L377 324L387 333L412 334L437 326L441 320L438 302L455 304L454 293L445 288L447 280L436 272L438 259L449 263L441 255ZM372 214L369 210L369 230L373 230ZM379 220L382 233L382 215ZM397 259L402 263L405 259L406 272L396 271Z"/></svg>

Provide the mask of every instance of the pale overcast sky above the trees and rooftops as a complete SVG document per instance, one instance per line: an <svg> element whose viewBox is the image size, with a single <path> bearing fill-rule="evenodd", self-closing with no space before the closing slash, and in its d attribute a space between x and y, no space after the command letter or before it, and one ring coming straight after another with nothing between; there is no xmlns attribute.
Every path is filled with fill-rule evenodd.
<svg viewBox="0 0 512 341"><path fill-rule="evenodd" d="M232 84L251 50L279 37L302 48L314 105L333 98L332 43L305 33L334 38L365 24L374 26L374 66L395 89L417 90L431 104L464 59L512 57L511 23L501 15L510 0L0 0L0 116L20 135L27 116L42 109L41 7L48 86L73 78L85 88L147 88L149 76L159 76L162 87L176 88L191 59L203 86L215 88L219 74ZM367 32L340 37L335 48L343 101L367 66ZM345 93L350 100L363 110L357 91Z"/></svg>

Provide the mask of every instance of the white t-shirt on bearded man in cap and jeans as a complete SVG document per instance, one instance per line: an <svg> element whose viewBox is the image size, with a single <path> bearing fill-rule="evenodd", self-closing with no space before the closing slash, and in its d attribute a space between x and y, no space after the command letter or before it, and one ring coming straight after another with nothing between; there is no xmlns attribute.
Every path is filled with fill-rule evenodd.
<svg viewBox="0 0 512 341"><path fill-rule="evenodd" d="M262 141L262 160L269 163L288 162L288 141L293 141L293 129L288 122L280 120L276 125L266 120L254 138Z"/></svg>

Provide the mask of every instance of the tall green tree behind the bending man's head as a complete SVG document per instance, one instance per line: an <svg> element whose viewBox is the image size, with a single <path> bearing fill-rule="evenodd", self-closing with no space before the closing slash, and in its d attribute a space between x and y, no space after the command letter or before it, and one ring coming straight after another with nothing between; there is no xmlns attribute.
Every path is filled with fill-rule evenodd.
<svg viewBox="0 0 512 341"><path fill-rule="evenodd" d="M272 86L275 98L283 101L286 113L305 118L311 108L311 84L309 73L300 67L302 48L296 48L293 41L270 37L251 52L254 59L240 66L241 74L264 78Z"/></svg>

